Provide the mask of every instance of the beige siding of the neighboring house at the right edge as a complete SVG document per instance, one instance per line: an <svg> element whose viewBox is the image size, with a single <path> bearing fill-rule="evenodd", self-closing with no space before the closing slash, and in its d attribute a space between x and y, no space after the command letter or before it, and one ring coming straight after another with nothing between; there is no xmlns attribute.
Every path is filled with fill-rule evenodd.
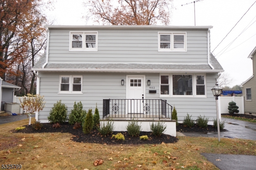
<svg viewBox="0 0 256 170"><path fill-rule="evenodd" d="M256 113L256 53L252 57L252 65L253 65L253 75L251 78L243 85L243 96L244 96L244 112L246 113ZM246 100L245 89L251 88L252 100Z"/></svg>

